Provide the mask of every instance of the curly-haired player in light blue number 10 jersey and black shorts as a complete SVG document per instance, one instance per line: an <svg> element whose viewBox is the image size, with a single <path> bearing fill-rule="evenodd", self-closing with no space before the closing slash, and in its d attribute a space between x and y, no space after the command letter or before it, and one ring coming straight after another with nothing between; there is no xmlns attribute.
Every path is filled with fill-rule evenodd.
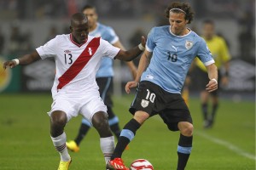
<svg viewBox="0 0 256 170"><path fill-rule="evenodd" d="M125 86L126 92L130 93L130 88L137 87L139 82L130 108L134 116L123 128L107 169L129 169L121 159L125 146L131 142L143 122L156 114L171 131L180 132L177 169L186 167L192 149L193 124L189 108L181 97L181 89L195 56L207 67L207 91L218 88L217 67L206 42L187 27L193 15L188 3L172 3L166 8L166 17L171 26L154 27L149 32L137 77Z"/></svg>

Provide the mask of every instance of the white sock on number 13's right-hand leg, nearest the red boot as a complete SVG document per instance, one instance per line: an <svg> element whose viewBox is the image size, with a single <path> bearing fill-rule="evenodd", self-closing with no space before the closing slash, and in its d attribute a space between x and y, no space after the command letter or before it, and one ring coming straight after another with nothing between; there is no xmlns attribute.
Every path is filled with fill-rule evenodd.
<svg viewBox="0 0 256 170"><path fill-rule="evenodd" d="M106 163L108 163L114 150L114 137L110 136L107 138L101 138L100 144L101 144L102 153L105 157L105 161Z"/></svg>

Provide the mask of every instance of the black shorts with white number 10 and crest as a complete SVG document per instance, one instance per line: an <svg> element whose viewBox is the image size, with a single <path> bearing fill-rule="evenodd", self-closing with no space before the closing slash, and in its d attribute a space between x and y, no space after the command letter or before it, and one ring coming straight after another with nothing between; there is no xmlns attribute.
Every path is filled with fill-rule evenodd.
<svg viewBox="0 0 256 170"><path fill-rule="evenodd" d="M172 131L178 131L178 122L192 123L189 108L181 94L168 93L160 86L148 81L139 83L129 111L133 115L136 111L145 111L149 116L158 114Z"/></svg>

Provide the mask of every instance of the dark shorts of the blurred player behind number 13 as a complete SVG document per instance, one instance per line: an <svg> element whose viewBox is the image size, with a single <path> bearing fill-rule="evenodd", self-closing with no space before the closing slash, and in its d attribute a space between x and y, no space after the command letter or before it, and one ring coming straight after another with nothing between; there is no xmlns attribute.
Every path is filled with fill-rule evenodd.
<svg viewBox="0 0 256 170"><path fill-rule="evenodd" d="M113 106L111 95L113 94L113 77L99 77L96 78L99 87L101 98L108 107Z"/></svg>

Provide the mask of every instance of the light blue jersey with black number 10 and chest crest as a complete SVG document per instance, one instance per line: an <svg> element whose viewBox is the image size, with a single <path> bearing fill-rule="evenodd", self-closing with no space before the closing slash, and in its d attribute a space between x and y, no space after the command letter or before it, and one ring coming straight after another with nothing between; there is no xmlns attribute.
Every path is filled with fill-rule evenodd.
<svg viewBox="0 0 256 170"><path fill-rule="evenodd" d="M148 34L146 48L153 55L141 81L154 82L172 94L181 93L196 56L205 65L214 63L207 43L194 31L176 36L170 31L170 26L154 27Z"/></svg>

